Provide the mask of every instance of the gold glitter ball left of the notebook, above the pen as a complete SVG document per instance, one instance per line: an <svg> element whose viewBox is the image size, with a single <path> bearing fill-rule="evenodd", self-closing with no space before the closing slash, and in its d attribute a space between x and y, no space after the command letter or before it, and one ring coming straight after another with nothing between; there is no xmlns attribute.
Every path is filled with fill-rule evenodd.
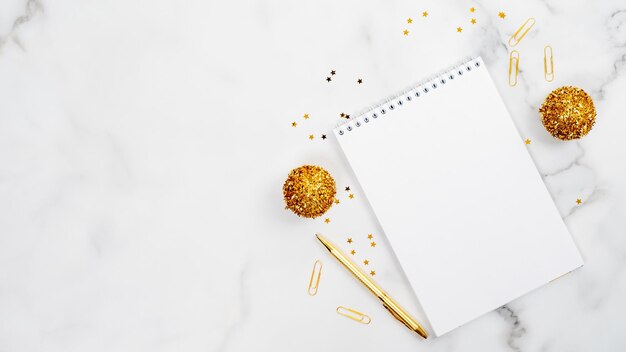
<svg viewBox="0 0 626 352"><path fill-rule="evenodd" d="M287 209L298 216L316 218L335 201L335 180L319 166L303 165L291 170L283 185Z"/></svg>

